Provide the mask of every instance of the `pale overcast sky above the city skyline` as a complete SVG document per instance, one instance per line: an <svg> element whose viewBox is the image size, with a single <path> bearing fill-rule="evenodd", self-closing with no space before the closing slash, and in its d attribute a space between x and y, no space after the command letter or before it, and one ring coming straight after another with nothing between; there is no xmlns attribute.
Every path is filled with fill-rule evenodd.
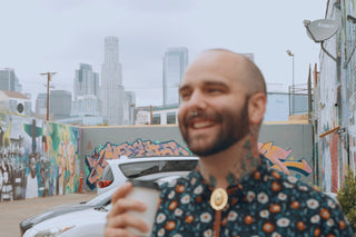
<svg viewBox="0 0 356 237"><path fill-rule="evenodd" d="M56 71L55 89L72 91L75 70L101 72L103 38L119 38L126 90L137 106L162 105L162 56L187 47L189 61L209 48L254 53L269 90L306 83L320 46L304 19L324 19L327 0L0 0L0 68L13 68L22 92L46 92L41 72ZM333 40L333 38L330 39ZM277 86L276 86L277 85Z"/></svg>

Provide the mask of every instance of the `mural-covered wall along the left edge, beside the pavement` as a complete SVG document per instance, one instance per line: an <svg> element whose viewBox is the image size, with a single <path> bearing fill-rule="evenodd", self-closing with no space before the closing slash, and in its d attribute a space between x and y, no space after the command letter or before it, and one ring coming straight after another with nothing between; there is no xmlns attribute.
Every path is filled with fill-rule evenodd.
<svg viewBox="0 0 356 237"><path fill-rule="evenodd" d="M78 192L78 128L0 113L0 200Z"/></svg>

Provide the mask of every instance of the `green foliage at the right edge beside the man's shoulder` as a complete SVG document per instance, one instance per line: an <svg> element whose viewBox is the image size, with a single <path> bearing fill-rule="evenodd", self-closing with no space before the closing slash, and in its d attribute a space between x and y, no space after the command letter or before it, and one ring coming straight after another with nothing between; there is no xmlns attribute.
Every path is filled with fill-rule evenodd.
<svg viewBox="0 0 356 237"><path fill-rule="evenodd" d="M356 176L350 169L347 170L343 187L337 192L337 200L349 224L356 230Z"/></svg>

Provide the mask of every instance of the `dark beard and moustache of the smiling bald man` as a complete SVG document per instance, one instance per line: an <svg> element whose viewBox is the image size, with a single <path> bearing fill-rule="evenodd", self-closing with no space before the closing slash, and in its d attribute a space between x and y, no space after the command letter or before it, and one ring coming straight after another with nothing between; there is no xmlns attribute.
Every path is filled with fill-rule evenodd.
<svg viewBox="0 0 356 237"><path fill-rule="evenodd" d="M195 146L195 140L189 134L189 121L194 118L204 118L220 124L220 130L205 146ZM204 111L196 116L188 116L179 122L180 132L191 152L198 156L211 156L228 149L230 146L240 141L249 132L248 122L248 99L240 111ZM201 138L204 139L204 138Z"/></svg>

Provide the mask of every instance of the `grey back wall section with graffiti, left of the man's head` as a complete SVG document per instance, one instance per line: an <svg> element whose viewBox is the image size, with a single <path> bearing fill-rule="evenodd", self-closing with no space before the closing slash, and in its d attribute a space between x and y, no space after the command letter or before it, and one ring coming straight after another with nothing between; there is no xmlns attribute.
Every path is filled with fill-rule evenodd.
<svg viewBox="0 0 356 237"><path fill-rule="evenodd" d="M177 126L132 126L85 128L83 155L86 190L95 190L107 159L120 156L192 156Z"/></svg>

